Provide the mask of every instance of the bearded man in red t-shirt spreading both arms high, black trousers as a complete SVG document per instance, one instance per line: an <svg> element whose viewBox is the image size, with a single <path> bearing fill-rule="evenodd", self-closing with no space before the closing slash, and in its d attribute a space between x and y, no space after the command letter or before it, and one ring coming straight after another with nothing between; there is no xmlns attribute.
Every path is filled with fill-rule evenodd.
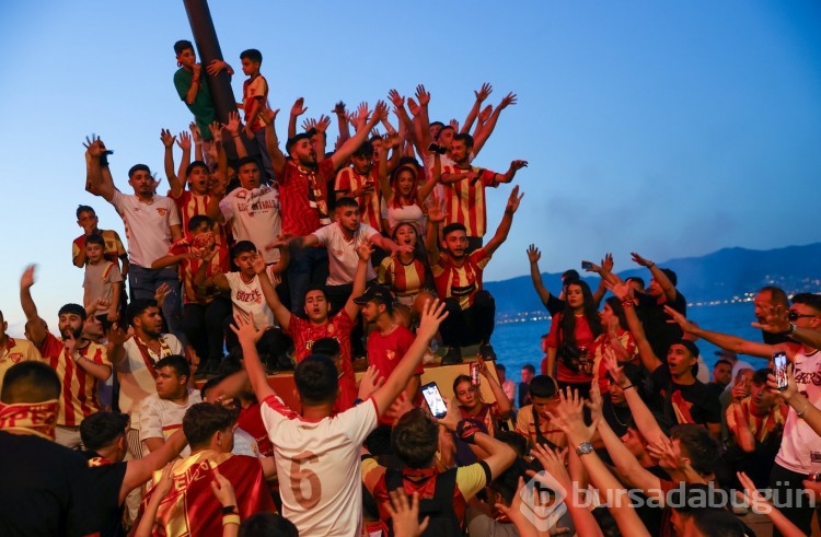
<svg viewBox="0 0 821 537"><path fill-rule="evenodd" d="M327 182L334 171L342 166L354 151L362 144L368 133L388 113L385 104L379 102L373 117L361 121L356 135L349 138L333 155L317 161L316 151L311 145L311 133L302 132L288 140L286 159L279 149L274 120L277 113L263 110L267 129L268 153L274 164L274 174L279 185L282 202L282 233L290 236L310 235L323 225L329 224L327 208ZM359 117L368 117L368 106L359 109ZM325 136L322 131L317 136ZM327 252L323 248L293 248L288 267L288 285L291 294L291 312L300 313L309 285L324 281L327 267Z"/></svg>

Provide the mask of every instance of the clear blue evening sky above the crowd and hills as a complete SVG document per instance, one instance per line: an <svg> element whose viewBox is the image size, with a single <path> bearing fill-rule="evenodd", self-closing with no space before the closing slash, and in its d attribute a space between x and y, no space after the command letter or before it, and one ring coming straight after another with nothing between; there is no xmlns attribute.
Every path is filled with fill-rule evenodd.
<svg viewBox="0 0 821 537"><path fill-rule="evenodd" d="M239 54L258 48L271 105L284 110L304 96L317 116L340 98L374 103L423 82L432 118L463 120L483 82L494 105L516 92L476 161L498 171L530 161L487 280L525 273L531 242L542 269L560 271L604 252L618 269L632 266L631 250L664 260L819 240L821 4L464 5L221 0L211 14L239 72L235 94ZM169 0L3 2L0 21L0 308L18 334L26 264L39 266L34 296L51 324L82 297L70 262L79 203L122 232L114 210L82 189L84 136L116 151L112 171L127 189L132 164L161 172L160 129L188 125L172 45L192 33L183 2ZM490 192L492 226L509 189Z"/></svg>

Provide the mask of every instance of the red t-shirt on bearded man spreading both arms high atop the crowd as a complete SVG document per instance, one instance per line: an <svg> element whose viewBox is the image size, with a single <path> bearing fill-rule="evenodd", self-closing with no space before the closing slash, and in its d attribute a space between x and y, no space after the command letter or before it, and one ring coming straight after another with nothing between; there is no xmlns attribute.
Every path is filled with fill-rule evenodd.
<svg viewBox="0 0 821 537"><path fill-rule="evenodd" d="M327 209L327 182L334 176L331 159L320 161L319 172L298 166L289 160L279 184L282 234L310 235L329 223ZM324 221L324 222L323 222Z"/></svg>

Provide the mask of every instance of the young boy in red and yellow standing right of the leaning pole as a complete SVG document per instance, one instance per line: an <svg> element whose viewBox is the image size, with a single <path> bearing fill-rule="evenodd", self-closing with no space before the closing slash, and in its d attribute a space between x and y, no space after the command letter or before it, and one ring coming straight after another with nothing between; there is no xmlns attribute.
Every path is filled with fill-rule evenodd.
<svg viewBox="0 0 821 537"><path fill-rule="evenodd" d="M242 103L236 103L236 107L245 110L245 136L248 139L256 139L265 175L268 182L271 182L274 180L274 166L265 144L265 121L259 118L259 113L268 103L268 82L259 73L263 54L255 48L248 48L240 54L240 60L242 72L248 79L242 84Z"/></svg>

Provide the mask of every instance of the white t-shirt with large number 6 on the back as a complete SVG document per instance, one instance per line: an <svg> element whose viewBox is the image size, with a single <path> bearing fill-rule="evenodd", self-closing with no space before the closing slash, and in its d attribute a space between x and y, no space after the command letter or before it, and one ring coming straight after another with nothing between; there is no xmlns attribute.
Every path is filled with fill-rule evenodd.
<svg viewBox="0 0 821 537"><path fill-rule="evenodd" d="M377 427L369 399L321 421L307 421L271 396L261 407L282 497L282 516L300 535L359 537L362 477L359 450Z"/></svg>

